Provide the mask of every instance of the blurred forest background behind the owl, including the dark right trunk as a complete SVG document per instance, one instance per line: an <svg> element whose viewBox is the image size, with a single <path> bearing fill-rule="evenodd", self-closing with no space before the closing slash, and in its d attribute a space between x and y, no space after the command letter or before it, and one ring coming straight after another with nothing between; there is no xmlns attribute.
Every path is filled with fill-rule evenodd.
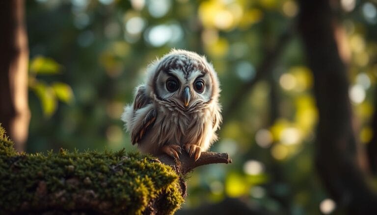
<svg viewBox="0 0 377 215"><path fill-rule="evenodd" d="M31 116L20 150L136 151L123 107L148 63L183 48L218 72L224 121L211 150L233 164L191 173L178 213L237 201L259 212L341 214L376 202L375 0L20 5Z"/></svg>

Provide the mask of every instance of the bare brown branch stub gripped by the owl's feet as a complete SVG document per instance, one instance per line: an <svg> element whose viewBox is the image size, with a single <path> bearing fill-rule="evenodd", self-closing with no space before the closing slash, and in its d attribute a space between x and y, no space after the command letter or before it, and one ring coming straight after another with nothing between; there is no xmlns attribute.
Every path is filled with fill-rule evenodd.
<svg viewBox="0 0 377 215"><path fill-rule="evenodd" d="M183 152L180 154L180 161L174 160L167 154L160 155L159 160L169 166L174 167L182 174L188 173L193 168L207 165L207 164L230 164L232 159L229 158L228 153L215 153L215 152L202 152L199 160L196 162L192 157L188 156L188 153Z"/></svg>

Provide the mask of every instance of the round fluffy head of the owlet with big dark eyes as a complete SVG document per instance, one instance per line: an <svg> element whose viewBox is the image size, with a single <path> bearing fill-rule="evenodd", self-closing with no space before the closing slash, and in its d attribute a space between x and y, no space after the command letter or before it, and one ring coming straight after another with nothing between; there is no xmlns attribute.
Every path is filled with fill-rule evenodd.
<svg viewBox="0 0 377 215"><path fill-rule="evenodd" d="M195 52L171 50L148 69L148 85L156 99L182 110L217 102L219 81L207 59Z"/></svg>

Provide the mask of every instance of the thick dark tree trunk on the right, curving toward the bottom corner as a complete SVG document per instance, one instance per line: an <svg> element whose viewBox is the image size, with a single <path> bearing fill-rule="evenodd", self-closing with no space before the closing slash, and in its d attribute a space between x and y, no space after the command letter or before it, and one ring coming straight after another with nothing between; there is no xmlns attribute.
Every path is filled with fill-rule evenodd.
<svg viewBox="0 0 377 215"><path fill-rule="evenodd" d="M335 33L335 0L300 0L299 31L314 75L319 111L316 165L324 187L350 214L376 214L376 194L356 159L347 68Z"/></svg>

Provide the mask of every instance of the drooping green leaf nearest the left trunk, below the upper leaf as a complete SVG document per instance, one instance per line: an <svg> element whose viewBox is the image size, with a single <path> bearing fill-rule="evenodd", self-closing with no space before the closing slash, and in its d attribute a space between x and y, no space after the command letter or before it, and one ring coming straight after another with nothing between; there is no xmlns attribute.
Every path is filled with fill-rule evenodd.
<svg viewBox="0 0 377 215"><path fill-rule="evenodd" d="M53 88L42 82L38 82L34 86L34 91L41 101L43 114L45 117L51 117L57 108L57 101Z"/></svg>

